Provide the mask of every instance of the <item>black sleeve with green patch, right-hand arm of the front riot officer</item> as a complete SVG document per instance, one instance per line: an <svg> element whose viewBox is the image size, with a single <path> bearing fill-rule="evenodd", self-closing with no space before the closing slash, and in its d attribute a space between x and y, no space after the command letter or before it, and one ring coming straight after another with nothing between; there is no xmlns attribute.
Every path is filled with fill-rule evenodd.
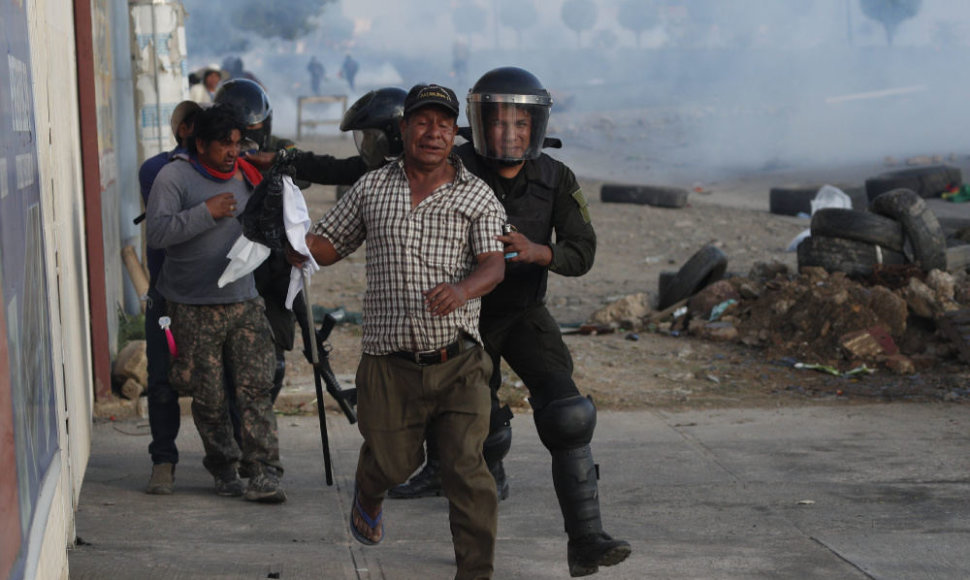
<svg viewBox="0 0 970 580"><path fill-rule="evenodd" d="M552 225L556 233L549 270L561 276L582 276L593 267L596 232L589 218L589 206L576 176L568 167L556 189Z"/></svg>

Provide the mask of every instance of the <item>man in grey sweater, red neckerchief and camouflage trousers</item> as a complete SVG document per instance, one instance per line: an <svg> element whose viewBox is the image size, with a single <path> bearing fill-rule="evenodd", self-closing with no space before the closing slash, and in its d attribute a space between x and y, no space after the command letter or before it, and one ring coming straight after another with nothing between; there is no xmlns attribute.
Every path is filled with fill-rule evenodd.
<svg viewBox="0 0 970 580"><path fill-rule="evenodd" d="M146 211L148 245L164 248L158 291L168 301L173 353L169 380L192 396L192 417L205 446L205 468L216 493L280 503L279 460L272 388L275 360L263 299L252 274L222 288L226 254L242 233L234 219L262 176L238 158L244 121L229 106L200 111L189 154L155 178ZM233 438L223 373L236 387L240 442ZM241 449L240 449L241 447ZM253 466L249 484L240 460Z"/></svg>

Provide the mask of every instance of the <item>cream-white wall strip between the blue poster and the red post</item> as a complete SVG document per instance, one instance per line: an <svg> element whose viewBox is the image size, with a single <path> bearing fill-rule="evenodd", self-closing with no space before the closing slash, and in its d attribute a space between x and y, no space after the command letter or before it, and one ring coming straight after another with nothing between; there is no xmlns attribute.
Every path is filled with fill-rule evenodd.
<svg viewBox="0 0 970 580"><path fill-rule="evenodd" d="M40 543L30 551L38 556L37 578L66 578L65 548L74 543L74 508L91 451L94 393L74 7L70 0L27 5L61 446L58 480L49 486L47 526L42 539L30 539Z"/></svg>

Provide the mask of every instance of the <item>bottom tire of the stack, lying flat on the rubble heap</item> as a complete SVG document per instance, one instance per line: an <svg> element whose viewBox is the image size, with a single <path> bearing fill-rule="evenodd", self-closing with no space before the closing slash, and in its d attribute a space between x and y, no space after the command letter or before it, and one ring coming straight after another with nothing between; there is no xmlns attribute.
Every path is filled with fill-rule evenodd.
<svg viewBox="0 0 970 580"><path fill-rule="evenodd" d="M829 272L845 272L849 276L869 276L876 264L904 264L906 257L875 244L834 238L811 236L798 244L798 268L817 266Z"/></svg>

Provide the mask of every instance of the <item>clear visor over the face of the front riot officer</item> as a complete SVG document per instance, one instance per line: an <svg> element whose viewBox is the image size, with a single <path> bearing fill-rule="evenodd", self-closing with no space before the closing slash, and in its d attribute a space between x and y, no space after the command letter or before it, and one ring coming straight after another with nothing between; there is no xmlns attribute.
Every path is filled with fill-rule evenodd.
<svg viewBox="0 0 970 580"><path fill-rule="evenodd" d="M539 157L551 106L552 99L537 95L469 95L475 152L510 163Z"/></svg>

